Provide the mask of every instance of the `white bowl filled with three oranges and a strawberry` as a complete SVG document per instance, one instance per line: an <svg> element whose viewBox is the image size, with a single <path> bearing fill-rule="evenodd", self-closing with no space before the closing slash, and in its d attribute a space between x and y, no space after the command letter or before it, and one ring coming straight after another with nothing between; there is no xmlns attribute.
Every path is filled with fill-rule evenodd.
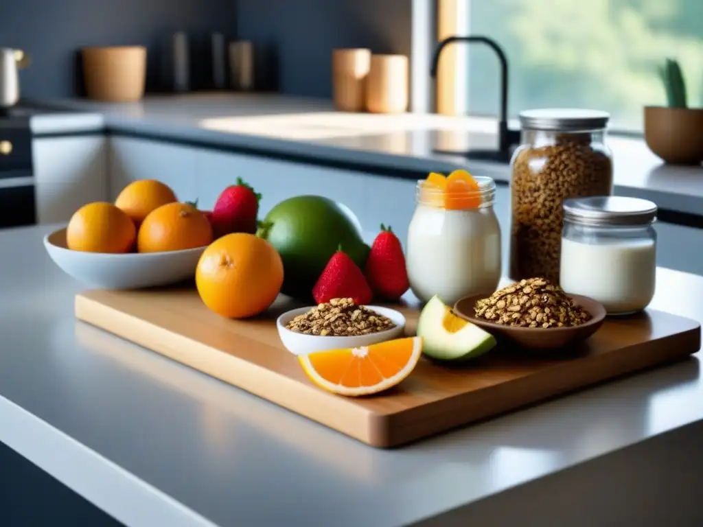
<svg viewBox="0 0 703 527"><path fill-rule="evenodd" d="M215 238L253 233L258 202L241 180L222 192L212 212L179 202L160 181L133 181L114 203L80 207L66 228L44 238L44 247L56 265L89 287L171 285L195 276Z"/></svg>

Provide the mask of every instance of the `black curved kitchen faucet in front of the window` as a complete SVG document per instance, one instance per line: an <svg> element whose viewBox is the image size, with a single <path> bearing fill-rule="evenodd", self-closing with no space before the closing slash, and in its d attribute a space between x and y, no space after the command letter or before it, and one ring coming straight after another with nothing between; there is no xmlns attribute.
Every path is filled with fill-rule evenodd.
<svg viewBox="0 0 703 527"><path fill-rule="evenodd" d="M498 149L497 150L469 150L468 152L451 152L447 150L434 150L443 154L463 155L470 159L490 160L498 162L510 162L512 150L520 142L520 131L511 130L508 128L508 58L505 56L503 48L498 43L489 39L489 37L447 37L439 42L437 49L434 51L432 58L432 67L430 68L430 77L437 79L437 65L439 65L439 56L445 46L453 42L466 42L467 44L479 43L486 44L496 52L498 60L501 63L501 114L498 120Z"/></svg>

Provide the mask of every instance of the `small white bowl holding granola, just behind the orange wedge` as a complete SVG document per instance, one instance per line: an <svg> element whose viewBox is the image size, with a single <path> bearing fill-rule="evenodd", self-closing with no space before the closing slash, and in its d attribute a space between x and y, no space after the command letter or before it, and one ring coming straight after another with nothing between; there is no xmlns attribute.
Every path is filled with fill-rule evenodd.
<svg viewBox="0 0 703 527"><path fill-rule="evenodd" d="M276 320L278 335L283 342L283 346L294 355L307 355L315 351L325 351L328 349L358 348L359 346L370 346L387 340L402 337L405 332L405 317L400 311L380 306L364 306L379 315L390 318L395 327L390 330L358 335L356 337L321 337L320 335L306 335L288 330L285 326L297 317L310 311L313 306L307 308L292 309L286 311Z"/></svg>

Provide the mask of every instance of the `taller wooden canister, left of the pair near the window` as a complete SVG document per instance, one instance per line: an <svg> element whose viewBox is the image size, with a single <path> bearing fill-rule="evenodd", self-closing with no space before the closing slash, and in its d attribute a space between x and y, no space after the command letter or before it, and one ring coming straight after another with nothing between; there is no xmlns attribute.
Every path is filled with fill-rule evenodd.
<svg viewBox="0 0 703 527"><path fill-rule="evenodd" d="M363 112L370 60L371 51L368 49L333 50L332 93L337 110Z"/></svg>

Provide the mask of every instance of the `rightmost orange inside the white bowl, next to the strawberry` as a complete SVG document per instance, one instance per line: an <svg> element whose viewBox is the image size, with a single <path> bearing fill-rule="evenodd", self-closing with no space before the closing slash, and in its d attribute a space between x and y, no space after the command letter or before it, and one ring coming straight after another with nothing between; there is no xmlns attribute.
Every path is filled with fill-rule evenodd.
<svg viewBox="0 0 703 527"><path fill-rule="evenodd" d="M137 235L138 252L180 251L212 242L212 227L187 203L168 203L146 216Z"/></svg>

